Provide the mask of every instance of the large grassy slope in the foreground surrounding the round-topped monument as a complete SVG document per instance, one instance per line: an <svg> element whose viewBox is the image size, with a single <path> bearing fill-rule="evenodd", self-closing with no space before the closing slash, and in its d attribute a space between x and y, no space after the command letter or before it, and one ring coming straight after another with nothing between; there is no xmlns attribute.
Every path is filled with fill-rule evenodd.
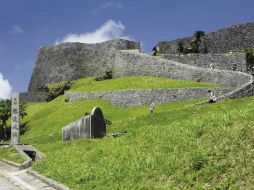
<svg viewBox="0 0 254 190"><path fill-rule="evenodd" d="M23 143L47 159L34 169L73 189L251 189L254 98L186 107L195 101L122 109L103 101L28 106ZM61 128L99 105L116 139L61 142Z"/></svg>

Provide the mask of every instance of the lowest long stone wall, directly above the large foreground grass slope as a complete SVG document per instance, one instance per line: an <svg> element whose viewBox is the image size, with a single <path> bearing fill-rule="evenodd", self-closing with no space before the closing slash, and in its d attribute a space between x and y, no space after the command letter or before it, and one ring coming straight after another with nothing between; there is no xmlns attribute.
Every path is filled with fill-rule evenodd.
<svg viewBox="0 0 254 190"><path fill-rule="evenodd" d="M148 89L148 90L122 90L113 92L65 92L69 101L102 99L120 107L135 107L150 104L162 104L172 101L208 98L208 90L212 90L216 96L221 96L230 89L208 88L176 88L176 89Z"/></svg>

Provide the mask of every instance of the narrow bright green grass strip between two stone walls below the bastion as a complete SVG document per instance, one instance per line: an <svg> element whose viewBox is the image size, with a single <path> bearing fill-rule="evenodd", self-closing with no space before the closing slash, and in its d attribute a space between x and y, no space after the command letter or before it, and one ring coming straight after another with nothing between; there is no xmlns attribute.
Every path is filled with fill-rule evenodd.
<svg viewBox="0 0 254 190"><path fill-rule="evenodd" d="M126 77L111 80L95 81L94 78L84 78L73 81L70 91L91 92L91 91L115 91L130 89L157 89L157 88L214 88L215 84L194 82L187 80L173 80L160 77Z"/></svg>

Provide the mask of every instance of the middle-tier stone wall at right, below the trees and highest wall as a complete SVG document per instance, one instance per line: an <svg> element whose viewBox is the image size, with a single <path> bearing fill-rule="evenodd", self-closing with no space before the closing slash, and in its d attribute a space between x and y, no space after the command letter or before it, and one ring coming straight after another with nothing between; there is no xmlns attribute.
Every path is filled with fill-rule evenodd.
<svg viewBox="0 0 254 190"><path fill-rule="evenodd" d="M189 64L197 67L210 68L213 64L215 69L233 70L234 65L237 65L236 70L247 72L246 56L244 53L231 54L165 54L165 59L176 61L179 63Z"/></svg>

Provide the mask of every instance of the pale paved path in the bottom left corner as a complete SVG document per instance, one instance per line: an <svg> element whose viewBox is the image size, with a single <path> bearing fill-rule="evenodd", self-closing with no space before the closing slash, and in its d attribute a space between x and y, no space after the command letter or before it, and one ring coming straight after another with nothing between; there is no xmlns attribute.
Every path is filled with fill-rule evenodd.
<svg viewBox="0 0 254 190"><path fill-rule="evenodd" d="M48 184L0 161L1 190L54 190Z"/></svg>

